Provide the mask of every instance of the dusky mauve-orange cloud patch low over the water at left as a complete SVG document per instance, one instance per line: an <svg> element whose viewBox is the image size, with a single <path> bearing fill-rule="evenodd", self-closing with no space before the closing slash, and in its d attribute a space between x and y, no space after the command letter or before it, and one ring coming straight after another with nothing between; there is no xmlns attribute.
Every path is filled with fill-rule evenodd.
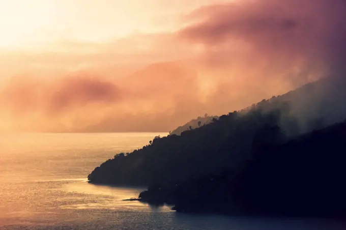
<svg viewBox="0 0 346 230"><path fill-rule="evenodd" d="M114 103L120 98L115 84L85 75L57 79L13 77L0 93L1 105L18 116L33 111L56 116L73 107Z"/></svg>

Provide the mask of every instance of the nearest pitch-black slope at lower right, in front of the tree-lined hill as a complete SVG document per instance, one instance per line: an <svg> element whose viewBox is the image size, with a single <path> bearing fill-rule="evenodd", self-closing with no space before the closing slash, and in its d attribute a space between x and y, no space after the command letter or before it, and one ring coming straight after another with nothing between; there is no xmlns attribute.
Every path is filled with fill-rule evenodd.
<svg viewBox="0 0 346 230"><path fill-rule="evenodd" d="M346 216L346 122L254 150L243 169L156 184L140 197L181 212Z"/></svg>

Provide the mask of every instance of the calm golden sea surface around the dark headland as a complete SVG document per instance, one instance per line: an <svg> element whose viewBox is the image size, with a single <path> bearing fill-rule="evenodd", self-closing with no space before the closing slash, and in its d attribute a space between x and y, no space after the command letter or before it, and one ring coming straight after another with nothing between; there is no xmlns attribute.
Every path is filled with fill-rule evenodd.
<svg viewBox="0 0 346 230"><path fill-rule="evenodd" d="M346 229L329 220L181 214L122 199L143 188L86 182L114 154L166 133L0 135L0 229Z"/></svg>

